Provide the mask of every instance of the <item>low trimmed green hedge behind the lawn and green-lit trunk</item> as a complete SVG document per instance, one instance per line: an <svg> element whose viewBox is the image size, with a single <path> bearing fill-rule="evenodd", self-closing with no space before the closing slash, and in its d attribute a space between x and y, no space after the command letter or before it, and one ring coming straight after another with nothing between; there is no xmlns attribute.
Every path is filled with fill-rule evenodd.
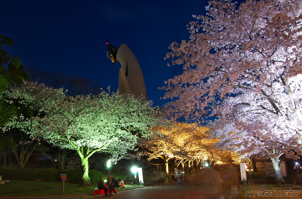
<svg viewBox="0 0 302 199"><path fill-rule="evenodd" d="M67 182L79 183L82 179L81 169L73 169L64 171ZM103 174L96 170L89 170L90 183L96 184L100 176ZM58 169L16 169L16 168L0 168L0 176L2 179L8 180L43 180L58 181L60 179L60 171Z"/></svg>

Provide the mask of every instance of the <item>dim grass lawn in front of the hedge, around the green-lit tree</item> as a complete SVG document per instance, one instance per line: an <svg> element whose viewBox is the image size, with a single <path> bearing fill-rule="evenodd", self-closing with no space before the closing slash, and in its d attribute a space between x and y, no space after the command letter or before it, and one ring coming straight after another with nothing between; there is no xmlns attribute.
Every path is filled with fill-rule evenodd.
<svg viewBox="0 0 302 199"><path fill-rule="evenodd" d="M78 184L65 182L65 195L92 195L95 185L89 187L76 187ZM134 186L125 185L126 188ZM37 182L37 181L19 181L10 180L0 185L1 196L29 196L29 195L62 195L63 182ZM117 190L126 189L117 188Z"/></svg>

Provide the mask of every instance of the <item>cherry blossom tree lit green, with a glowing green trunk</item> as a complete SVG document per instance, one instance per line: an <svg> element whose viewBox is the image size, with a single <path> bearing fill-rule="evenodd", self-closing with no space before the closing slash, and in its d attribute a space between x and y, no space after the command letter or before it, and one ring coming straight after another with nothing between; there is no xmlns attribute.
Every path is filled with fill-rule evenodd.
<svg viewBox="0 0 302 199"><path fill-rule="evenodd" d="M18 127L33 139L76 150L83 185L90 183L88 158L92 154L102 151L111 153L112 159L120 157L159 123L152 103L132 95L102 92L98 96L66 96L63 88L35 82L14 85L5 94L11 103L30 106L34 116L14 117L3 130Z"/></svg>

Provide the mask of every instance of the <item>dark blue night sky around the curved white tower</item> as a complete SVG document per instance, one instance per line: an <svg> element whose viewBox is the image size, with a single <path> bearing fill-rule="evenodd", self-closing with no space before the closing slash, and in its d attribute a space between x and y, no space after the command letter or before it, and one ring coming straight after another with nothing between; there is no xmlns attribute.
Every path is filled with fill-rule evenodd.
<svg viewBox="0 0 302 199"><path fill-rule="evenodd" d="M164 81L182 73L163 57L173 41L188 40L186 25L204 15L207 1L1 0L0 34L22 63L79 77L100 78L117 90L120 63L106 59L105 38L126 43L143 71L148 99L162 106Z"/></svg>

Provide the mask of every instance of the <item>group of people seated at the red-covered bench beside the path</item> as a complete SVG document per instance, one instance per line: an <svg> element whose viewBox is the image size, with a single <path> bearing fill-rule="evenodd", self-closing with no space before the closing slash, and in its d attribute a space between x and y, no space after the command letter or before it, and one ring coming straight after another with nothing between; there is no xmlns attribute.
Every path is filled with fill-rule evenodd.
<svg viewBox="0 0 302 199"><path fill-rule="evenodd" d="M111 195L112 193L117 193L114 188L119 188L122 187L124 188L124 182L121 179L116 180L115 178L112 177L112 174L109 174L109 177L107 180L104 180L104 176L100 177L100 181L98 181L98 189L104 189L105 190L105 196L108 196L108 191L109 194Z"/></svg>

